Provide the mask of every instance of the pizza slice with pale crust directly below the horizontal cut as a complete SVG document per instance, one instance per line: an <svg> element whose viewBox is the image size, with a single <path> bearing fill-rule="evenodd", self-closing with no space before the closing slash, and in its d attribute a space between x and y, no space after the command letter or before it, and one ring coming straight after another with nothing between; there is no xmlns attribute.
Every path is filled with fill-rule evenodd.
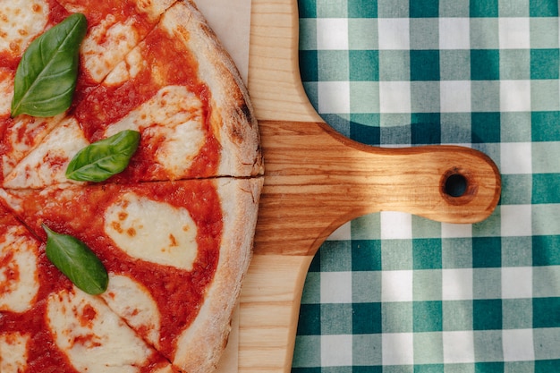
<svg viewBox="0 0 560 373"><path fill-rule="evenodd" d="M111 183L2 197L41 240L47 225L85 242L109 275L98 298L174 366L193 373L216 366L225 345L261 185L261 178Z"/></svg>

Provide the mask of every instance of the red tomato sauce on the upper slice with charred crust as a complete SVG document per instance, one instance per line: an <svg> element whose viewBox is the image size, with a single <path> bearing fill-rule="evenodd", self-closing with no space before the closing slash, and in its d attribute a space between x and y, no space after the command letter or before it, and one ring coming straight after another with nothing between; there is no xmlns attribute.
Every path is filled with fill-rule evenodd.
<svg viewBox="0 0 560 373"><path fill-rule="evenodd" d="M144 67L132 79L115 85L101 84L88 92L73 114L89 141L102 139L106 128L154 97L159 89L180 85L189 89L202 104L204 145L189 169L180 178L200 178L216 174L220 144L212 131L211 92L198 79L198 64L184 46L164 30L152 30L140 44ZM162 141L165 139L161 139ZM175 179L156 159L154 143L140 143L130 165L110 182L142 182Z"/></svg>

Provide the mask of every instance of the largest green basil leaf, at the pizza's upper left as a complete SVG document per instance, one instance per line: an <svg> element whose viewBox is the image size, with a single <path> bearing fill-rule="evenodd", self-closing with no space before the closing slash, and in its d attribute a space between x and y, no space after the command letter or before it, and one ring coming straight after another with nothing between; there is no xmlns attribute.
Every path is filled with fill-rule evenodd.
<svg viewBox="0 0 560 373"><path fill-rule="evenodd" d="M12 117L54 116L71 106L87 30L86 17L74 13L30 43L15 73Z"/></svg>

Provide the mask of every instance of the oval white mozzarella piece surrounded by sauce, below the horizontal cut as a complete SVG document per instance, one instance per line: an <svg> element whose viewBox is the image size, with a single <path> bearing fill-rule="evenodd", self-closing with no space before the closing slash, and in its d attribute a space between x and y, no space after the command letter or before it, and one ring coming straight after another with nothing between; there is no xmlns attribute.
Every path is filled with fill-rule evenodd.
<svg viewBox="0 0 560 373"><path fill-rule="evenodd" d="M133 258L164 266L190 271L198 253L189 211L132 192L107 208L105 232Z"/></svg>

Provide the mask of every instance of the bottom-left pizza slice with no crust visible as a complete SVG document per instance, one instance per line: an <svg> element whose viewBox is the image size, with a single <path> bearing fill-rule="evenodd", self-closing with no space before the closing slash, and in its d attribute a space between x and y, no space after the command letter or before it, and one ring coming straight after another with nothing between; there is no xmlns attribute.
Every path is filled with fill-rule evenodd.
<svg viewBox="0 0 560 373"><path fill-rule="evenodd" d="M44 243L4 208L0 235L0 371L174 371L101 299L62 276Z"/></svg>

